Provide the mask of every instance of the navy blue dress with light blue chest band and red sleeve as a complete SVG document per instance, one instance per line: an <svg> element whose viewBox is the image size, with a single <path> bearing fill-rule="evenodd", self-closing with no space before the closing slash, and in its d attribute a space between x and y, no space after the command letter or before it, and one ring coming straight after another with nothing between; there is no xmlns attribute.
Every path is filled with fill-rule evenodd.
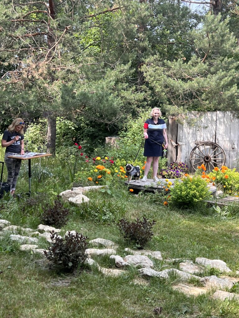
<svg viewBox="0 0 239 318"><path fill-rule="evenodd" d="M165 121L158 118L158 122L155 123L153 118L147 119L144 123L144 128L148 129L148 139L144 142L144 156L145 157L162 157L163 156L163 129L166 128ZM156 142L154 142L156 141Z"/></svg>

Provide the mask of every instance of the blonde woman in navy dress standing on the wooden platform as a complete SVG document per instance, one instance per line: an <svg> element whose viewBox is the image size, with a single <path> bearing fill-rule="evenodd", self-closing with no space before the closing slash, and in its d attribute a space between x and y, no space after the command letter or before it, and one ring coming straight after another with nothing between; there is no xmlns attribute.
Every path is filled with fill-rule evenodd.
<svg viewBox="0 0 239 318"><path fill-rule="evenodd" d="M143 182L147 181L148 171L153 162L153 180L158 181L158 160L163 156L163 149L168 147L168 138L166 133L165 121L160 118L162 113L159 108L153 108L151 111L152 118L147 119L144 123L144 156L147 157L144 168ZM158 142L158 143L156 143Z"/></svg>

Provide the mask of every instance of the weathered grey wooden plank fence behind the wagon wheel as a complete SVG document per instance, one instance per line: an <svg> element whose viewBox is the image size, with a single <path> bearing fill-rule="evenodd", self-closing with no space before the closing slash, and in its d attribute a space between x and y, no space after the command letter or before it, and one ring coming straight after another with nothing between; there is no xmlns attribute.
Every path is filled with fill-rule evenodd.
<svg viewBox="0 0 239 318"><path fill-rule="evenodd" d="M230 112L190 112L188 123L179 124L173 117L168 122L168 163L189 161L192 149L201 142L215 142L225 152L228 168L235 168L239 145L239 119ZM193 123L192 123L193 122Z"/></svg>

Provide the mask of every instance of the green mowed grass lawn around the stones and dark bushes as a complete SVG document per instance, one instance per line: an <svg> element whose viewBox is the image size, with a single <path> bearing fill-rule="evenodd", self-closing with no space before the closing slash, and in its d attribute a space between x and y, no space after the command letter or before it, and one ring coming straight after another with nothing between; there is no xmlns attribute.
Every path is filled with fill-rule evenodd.
<svg viewBox="0 0 239 318"><path fill-rule="evenodd" d="M153 195L137 197L124 187L111 194L89 192L89 197L94 204L89 205L88 218L82 218L82 208L69 206L70 218L62 234L75 230L89 239L110 239L120 245L118 253L123 255L128 245L120 238L116 223L103 224L89 218L96 203L105 206L106 213L116 204L118 210L120 206L124 208L128 219L145 216L156 220L153 239L145 248L160 251L163 259L195 261L196 257L206 257L225 261L233 274L239 269L238 217L217 218L213 209L206 206L196 211L170 210L154 202ZM24 200L6 201L0 218L13 225L36 228L40 223L40 201L35 208L21 211ZM47 245L41 238L39 247ZM210 294L186 297L174 291L172 285L179 281L177 277L151 278L146 280L148 284L140 285L134 284L134 279L141 277L135 268L128 268L119 277L105 277L94 266L63 274L49 269L44 256L19 251L19 246L11 243L8 236L0 240L0 246L1 318L152 318L157 316L153 311L156 307L163 308L160 317L239 317L236 301L214 301ZM101 266L115 268L108 256L96 260ZM165 262L153 261L156 270L165 268ZM172 266L178 268L178 263Z"/></svg>

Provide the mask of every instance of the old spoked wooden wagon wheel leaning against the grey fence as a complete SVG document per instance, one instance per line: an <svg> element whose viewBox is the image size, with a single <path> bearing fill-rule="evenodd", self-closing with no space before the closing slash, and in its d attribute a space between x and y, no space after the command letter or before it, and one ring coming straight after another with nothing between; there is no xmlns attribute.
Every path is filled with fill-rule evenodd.
<svg viewBox="0 0 239 318"><path fill-rule="evenodd" d="M221 168L225 164L226 156L215 142L201 142L192 149L189 160L194 170L204 163L206 170L211 171L215 167Z"/></svg>

